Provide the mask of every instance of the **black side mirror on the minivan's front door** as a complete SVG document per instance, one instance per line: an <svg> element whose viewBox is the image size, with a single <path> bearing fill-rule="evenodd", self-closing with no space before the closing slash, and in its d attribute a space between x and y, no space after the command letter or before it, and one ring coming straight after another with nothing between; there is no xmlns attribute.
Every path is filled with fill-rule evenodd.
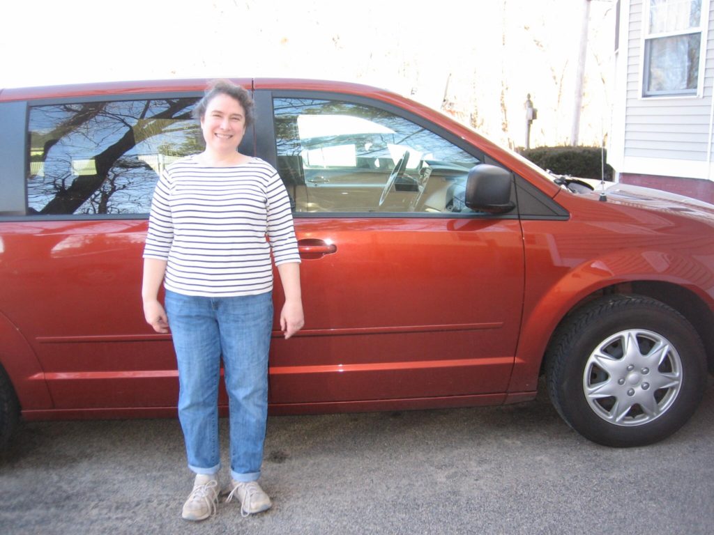
<svg viewBox="0 0 714 535"><path fill-rule="evenodd" d="M466 180L466 206L472 210L501 214L516 208L511 200L513 177L511 172L480 163L468 171Z"/></svg>

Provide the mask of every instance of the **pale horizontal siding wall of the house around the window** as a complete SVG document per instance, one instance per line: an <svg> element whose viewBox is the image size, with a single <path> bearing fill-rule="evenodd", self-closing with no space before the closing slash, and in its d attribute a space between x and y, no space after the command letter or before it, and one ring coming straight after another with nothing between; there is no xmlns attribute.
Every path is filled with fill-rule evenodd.
<svg viewBox="0 0 714 535"><path fill-rule="evenodd" d="M623 182L673 190L713 202L714 183L710 180L714 179L711 168L714 3L703 0L702 6L709 10L709 24L705 26L707 41L700 94L643 98L645 1L622 2L620 24L625 27L620 31L618 61L626 60L626 64L620 65L616 77L625 78L624 84L618 83L618 91L624 91L625 97L613 111L611 165ZM622 133L617 132L618 128ZM619 147L615 145L620 143Z"/></svg>

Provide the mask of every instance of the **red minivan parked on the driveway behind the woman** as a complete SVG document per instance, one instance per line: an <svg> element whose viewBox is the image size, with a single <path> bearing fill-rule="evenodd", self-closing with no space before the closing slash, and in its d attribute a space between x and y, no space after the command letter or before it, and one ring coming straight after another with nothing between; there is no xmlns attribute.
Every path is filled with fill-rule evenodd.
<svg viewBox="0 0 714 535"><path fill-rule="evenodd" d="M272 414L523 402L541 374L600 444L693 414L714 370L713 205L555 178L376 88L236 83L257 109L240 150L280 172L303 258ZM141 253L158 173L202 150L205 86L0 91L0 442L20 416L176 414Z"/></svg>

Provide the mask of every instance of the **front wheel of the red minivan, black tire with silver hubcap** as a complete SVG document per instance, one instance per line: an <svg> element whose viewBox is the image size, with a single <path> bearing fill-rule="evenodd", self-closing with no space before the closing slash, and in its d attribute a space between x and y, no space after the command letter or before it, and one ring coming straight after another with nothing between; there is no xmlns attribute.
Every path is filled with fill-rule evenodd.
<svg viewBox="0 0 714 535"><path fill-rule="evenodd" d="M556 331L545 364L560 416L610 447L670 436L694 413L706 385L698 333L648 297L613 295L574 312Z"/></svg>

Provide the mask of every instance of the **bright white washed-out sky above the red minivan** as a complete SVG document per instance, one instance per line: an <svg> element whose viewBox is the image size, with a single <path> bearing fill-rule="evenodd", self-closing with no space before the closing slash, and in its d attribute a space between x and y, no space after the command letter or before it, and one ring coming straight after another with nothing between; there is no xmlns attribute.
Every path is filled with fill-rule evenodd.
<svg viewBox="0 0 714 535"><path fill-rule="evenodd" d="M522 144L572 116L585 0L34 0L2 9L0 88L162 78L294 77L368 83ZM7 6L8 2L5 3ZM591 2L582 134L609 116L613 2ZM532 142L533 143L533 142Z"/></svg>

